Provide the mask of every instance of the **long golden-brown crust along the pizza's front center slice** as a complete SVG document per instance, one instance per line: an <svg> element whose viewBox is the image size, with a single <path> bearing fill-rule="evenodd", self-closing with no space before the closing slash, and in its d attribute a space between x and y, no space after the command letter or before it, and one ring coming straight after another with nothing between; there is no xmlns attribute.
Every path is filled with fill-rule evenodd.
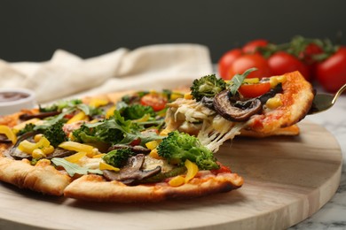
<svg viewBox="0 0 346 230"><path fill-rule="evenodd" d="M84 175L65 189L65 196L98 202L134 203L160 202L168 199L207 196L240 188L243 179L236 173L219 173L208 178L194 178L179 187L168 183L126 186L118 181L106 181L98 175Z"/></svg>

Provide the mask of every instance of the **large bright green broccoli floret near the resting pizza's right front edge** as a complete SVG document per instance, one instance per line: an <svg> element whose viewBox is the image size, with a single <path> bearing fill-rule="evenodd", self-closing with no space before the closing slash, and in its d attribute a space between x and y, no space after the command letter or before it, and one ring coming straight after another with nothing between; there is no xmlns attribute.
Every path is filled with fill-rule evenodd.
<svg viewBox="0 0 346 230"><path fill-rule="evenodd" d="M194 136L174 131L169 133L158 146L160 157L170 164L182 165L188 159L202 170L218 169L213 152L204 147Z"/></svg>

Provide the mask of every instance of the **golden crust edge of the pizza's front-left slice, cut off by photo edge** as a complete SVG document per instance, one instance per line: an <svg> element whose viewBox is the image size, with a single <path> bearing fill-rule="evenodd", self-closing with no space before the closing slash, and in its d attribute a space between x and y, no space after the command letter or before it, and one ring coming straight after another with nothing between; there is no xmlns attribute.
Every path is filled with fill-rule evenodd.
<svg viewBox="0 0 346 230"><path fill-rule="evenodd" d="M13 160L0 157L0 180L19 188L28 188L43 194L62 196L70 178L41 160L35 166L28 160Z"/></svg>

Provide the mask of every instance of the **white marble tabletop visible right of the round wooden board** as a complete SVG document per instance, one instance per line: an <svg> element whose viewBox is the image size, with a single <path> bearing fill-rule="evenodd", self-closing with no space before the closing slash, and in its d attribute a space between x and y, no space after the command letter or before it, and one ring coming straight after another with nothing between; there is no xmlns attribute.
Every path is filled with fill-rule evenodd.
<svg viewBox="0 0 346 230"><path fill-rule="evenodd" d="M334 134L342 149L342 178L334 197L318 212L290 229L346 229L346 95L334 107L305 119L311 120Z"/></svg>

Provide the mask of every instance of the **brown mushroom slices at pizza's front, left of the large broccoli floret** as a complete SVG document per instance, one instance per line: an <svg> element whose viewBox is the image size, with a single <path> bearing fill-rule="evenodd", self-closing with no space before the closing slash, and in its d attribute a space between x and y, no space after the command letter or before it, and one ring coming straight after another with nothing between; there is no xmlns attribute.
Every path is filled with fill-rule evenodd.
<svg viewBox="0 0 346 230"><path fill-rule="evenodd" d="M141 170L145 162L145 155L138 154L130 157L127 164L120 170L119 173L115 173L110 170L104 170L103 175L106 180L118 180L126 185L135 185L139 180L143 180L149 177L161 173L161 166L157 166L152 170Z"/></svg>

